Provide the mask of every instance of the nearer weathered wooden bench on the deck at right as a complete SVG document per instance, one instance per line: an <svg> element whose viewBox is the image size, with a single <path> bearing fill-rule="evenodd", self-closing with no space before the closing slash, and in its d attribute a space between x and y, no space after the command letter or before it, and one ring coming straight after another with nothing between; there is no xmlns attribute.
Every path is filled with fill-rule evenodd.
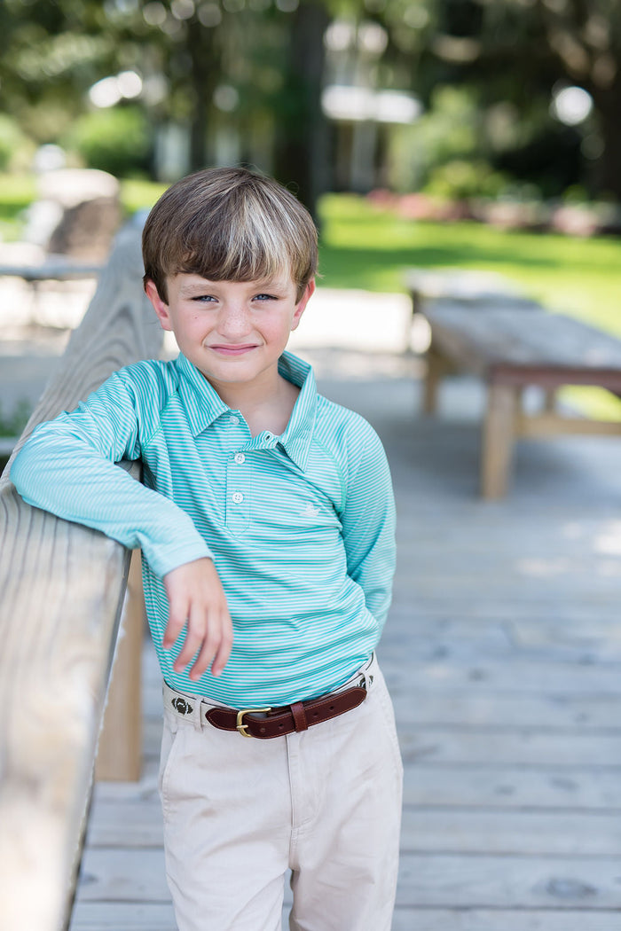
<svg viewBox="0 0 621 931"><path fill-rule="evenodd" d="M565 416L554 399L562 385L597 385L621 394L621 341L572 317L496 295L472 304L438 298L425 302L431 342L427 351L424 411L437 407L447 367L474 372L487 385L482 429L480 490L506 493L515 440L559 434L614 434L621 423ZM525 388L545 392L542 412L522 409Z"/></svg>

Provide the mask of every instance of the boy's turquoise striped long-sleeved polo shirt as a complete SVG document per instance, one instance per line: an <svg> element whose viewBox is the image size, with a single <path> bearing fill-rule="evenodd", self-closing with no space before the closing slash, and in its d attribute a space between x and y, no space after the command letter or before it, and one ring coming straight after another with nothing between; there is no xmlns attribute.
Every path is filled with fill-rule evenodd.
<svg viewBox="0 0 621 931"><path fill-rule="evenodd" d="M395 508L385 452L362 417L301 388L280 436L252 437L182 355L115 372L74 412L39 425L11 468L29 504L142 548L147 616L173 688L244 708L285 705L343 684L371 655L390 603ZM142 460L143 484L115 466ZM199 681L162 648L162 577L209 556L234 642Z"/></svg>

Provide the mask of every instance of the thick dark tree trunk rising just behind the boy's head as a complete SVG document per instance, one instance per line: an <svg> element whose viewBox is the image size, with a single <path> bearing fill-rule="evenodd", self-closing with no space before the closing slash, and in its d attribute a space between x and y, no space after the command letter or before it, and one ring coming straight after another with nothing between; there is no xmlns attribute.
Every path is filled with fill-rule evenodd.
<svg viewBox="0 0 621 931"><path fill-rule="evenodd" d="M302 3L291 17L290 51L277 114L275 173L317 220L317 197L330 185L328 127L321 109L323 36L330 18L320 0Z"/></svg>

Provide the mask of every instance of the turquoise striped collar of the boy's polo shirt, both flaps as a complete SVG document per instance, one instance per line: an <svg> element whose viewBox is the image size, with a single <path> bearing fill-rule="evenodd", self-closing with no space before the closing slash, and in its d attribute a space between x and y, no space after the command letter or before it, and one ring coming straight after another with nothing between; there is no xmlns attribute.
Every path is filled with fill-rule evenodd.
<svg viewBox="0 0 621 931"><path fill-rule="evenodd" d="M188 413L192 434L197 437L229 408L204 375L182 353L175 360L180 374L179 391ZM290 421L279 443L298 468L304 472L313 439L317 411L317 385L313 370L304 359L284 352L278 359L278 371L283 378L301 390L291 412Z"/></svg>

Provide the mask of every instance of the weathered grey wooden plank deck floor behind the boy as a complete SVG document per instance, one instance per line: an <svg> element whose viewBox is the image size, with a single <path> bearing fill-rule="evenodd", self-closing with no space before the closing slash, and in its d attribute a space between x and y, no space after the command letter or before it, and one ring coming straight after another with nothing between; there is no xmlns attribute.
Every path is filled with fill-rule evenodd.
<svg viewBox="0 0 621 931"><path fill-rule="evenodd" d="M448 380L426 421L403 363L312 360L377 427L397 492L379 651L406 769L393 931L618 931L621 443L523 441L509 497L481 502L477 385ZM151 649L145 669L144 774L96 789L72 931L175 928Z"/></svg>

